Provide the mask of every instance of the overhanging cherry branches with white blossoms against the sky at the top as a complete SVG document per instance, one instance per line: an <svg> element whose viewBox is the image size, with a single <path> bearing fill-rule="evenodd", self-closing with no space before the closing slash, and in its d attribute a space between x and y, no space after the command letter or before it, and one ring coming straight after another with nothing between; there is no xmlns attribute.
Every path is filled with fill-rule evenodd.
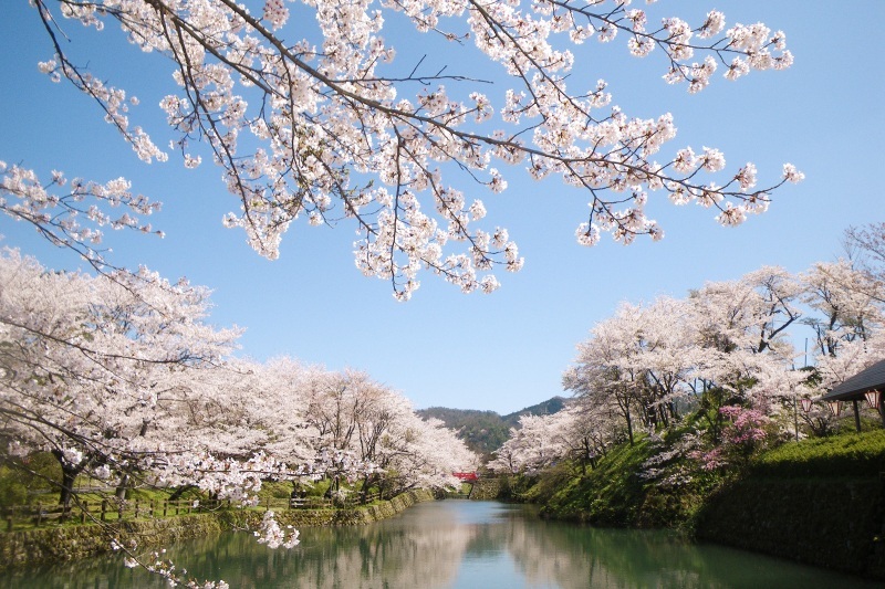
<svg viewBox="0 0 885 589"><path fill-rule="evenodd" d="M487 207L477 191L504 190L504 165L521 165L535 179L559 177L584 193L590 209L575 230L584 245L605 232L622 243L660 239L663 229L645 212L649 193L712 209L720 223L735 225L763 212L783 182L802 179L787 164L760 188L753 164L726 171L718 149L671 146L669 113L632 117L614 105L605 81L573 76L585 59L582 45L618 35L632 55L659 56L666 83L689 93L704 90L717 70L733 81L791 65L783 32L762 23L728 27L716 10L690 24L623 0L32 4L48 40L40 70L95 101L137 157L165 161L169 154L132 120L137 98L84 65L88 56L79 57L75 43L62 43L73 39L67 23L102 41L102 29L116 22L129 43L167 59L169 90L160 107L175 134L171 148L188 168L204 156L221 167L240 204L225 223L242 228L257 252L277 257L282 234L299 218L346 220L360 233L358 269L389 281L402 299L418 287L423 270L465 292L491 292L494 266L522 267L508 231L480 223ZM500 102L478 92L479 81L467 74L397 57L393 43L416 34L406 23L448 41L452 62L475 54L488 60L489 81L506 80ZM53 172L49 188L61 189L63 180ZM153 231L135 215L111 217L103 206L122 202L148 213L155 204L129 196L125 180L102 186L81 180L67 194L52 192L33 170L13 166L0 183L0 209L95 259L93 225ZM92 202L81 204L81 197Z"/></svg>

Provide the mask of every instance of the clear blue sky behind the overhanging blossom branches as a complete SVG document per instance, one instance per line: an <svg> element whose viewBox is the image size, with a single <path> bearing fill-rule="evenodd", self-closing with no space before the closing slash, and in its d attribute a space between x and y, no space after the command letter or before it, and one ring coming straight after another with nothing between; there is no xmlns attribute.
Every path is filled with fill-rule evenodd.
<svg viewBox="0 0 885 589"><path fill-rule="evenodd" d="M539 183L519 168L504 169L510 188L503 194L475 194L489 210L489 224L507 227L519 243L523 271L502 272L502 288L492 295L462 295L426 275L408 303L394 301L388 283L357 272L350 227L296 223L283 238L280 260L253 253L241 231L221 227L222 214L238 210L238 202L225 191L220 169L204 164L185 170L174 152L167 164L138 161L96 105L38 72L37 62L52 56L40 20L25 0L7 4L0 18L0 160L45 178L52 169L102 181L128 178L133 190L164 202L152 221L166 238L113 235L113 261L211 287L211 322L247 328L243 356L290 355L330 369L364 369L417 408L508 413L563 395L560 379L575 344L620 301L681 297L707 281L738 278L762 265L801 272L837 257L848 225L885 220L876 179L885 166L881 0L658 2L657 12L693 25L712 8L729 24L762 21L787 32L795 55L785 72L753 72L736 83L717 74L694 96L664 83L662 54L629 57L625 39L579 49L573 77L585 78L587 87L605 78L627 115L671 112L679 128L674 147L717 147L729 170L753 161L760 185L775 180L790 161L805 181L784 187L769 212L737 229L719 227L712 211L676 208L652 193L648 214L663 225L663 242L625 248L606 238L585 249L574 240L586 215L584 194L555 179ZM73 55L83 55L77 63L132 88L142 101L132 118L165 146L171 135L156 105L170 92L168 64L121 43L118 32L101 33L97 39L110 44L97 44L90 41L95 35L81 40L80 25L65 27ZM441 54L447 46L414 35L404 44L393 32L387 39L399 59L427 53L428 63L448 64L449 73L492 75L477 65L476 53ZM0 218L0 234L48 266L76 264L9 218Z"/></svg>

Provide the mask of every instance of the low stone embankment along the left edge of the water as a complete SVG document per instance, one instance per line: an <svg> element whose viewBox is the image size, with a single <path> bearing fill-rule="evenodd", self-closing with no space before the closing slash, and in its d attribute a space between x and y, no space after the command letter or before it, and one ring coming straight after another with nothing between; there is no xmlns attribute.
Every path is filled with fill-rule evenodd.
<svg viewBox="0 0 885 589"><path fill-rule="evenodd" d="M416 503L433 501L429 491L409 491L389 501L353 509L287 509L277 513L280 525L294 527L353 526L378 522ZM125 545L163 546L186 538L229 529L256 529L264 516L260 509L230 509L165 519L123 522L116 525L62 526L0 535L0 569L73 560L111 553L111 535Z"/></svg>

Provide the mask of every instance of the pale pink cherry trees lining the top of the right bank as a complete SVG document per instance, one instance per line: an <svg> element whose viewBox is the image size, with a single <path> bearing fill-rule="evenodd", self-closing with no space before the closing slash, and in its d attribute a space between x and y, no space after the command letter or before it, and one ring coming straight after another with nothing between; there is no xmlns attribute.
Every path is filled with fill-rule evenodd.
<svg viewBox="0 0 885 589"><path fill-rule="evenodd" d="M791 336L803 326L815 346L812 366L796 369L804 350ZM885 357L883 327L885 282L868 263L851 260L800 274L762 267L683 299L623 303L577 344L563 374L575 395L568 409L511 430L490 466L534 472L569 459L585 470L612 443L634 443L638 431L658 439L678 430L684 440L650 461L655 472L677 454L717 467L746 457L767 437L795 435L800 413L806 431L826 433L831 413L816 406L800 411L799 399L819 397Z"/></svg>

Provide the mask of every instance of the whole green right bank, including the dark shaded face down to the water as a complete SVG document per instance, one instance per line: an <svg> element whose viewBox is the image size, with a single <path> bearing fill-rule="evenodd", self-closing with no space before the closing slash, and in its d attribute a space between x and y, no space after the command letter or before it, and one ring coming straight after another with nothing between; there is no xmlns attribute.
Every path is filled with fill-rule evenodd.
<svg viewBox="0 0 885 589"><path fill-rule="evenodd" d="M788 442L709 472L669 450L666 440L645 438L613 449L586 473L560 464L503 490L541 504L545 517L679 528L885 580L885 431Z"/></svg>

